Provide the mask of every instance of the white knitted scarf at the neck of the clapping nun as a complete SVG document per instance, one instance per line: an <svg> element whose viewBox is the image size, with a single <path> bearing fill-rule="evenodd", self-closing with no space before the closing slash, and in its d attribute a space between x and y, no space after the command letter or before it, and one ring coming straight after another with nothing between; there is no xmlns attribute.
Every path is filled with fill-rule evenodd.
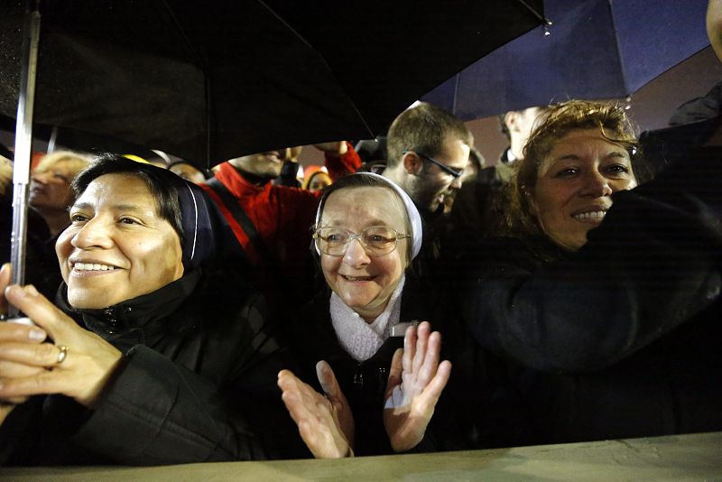
<svg viewBox="0 0 722 482"><path fill-rule="evenodd" d="M329 311L333 329L341 347L356 361L365 361L373 357L391 335L391 327L399 322L401 293L405 281L406 276L403 275L398 286L393 290L386 308L373 323L366 323L366 320L341 301L335 292L331 292Z"/></svg>

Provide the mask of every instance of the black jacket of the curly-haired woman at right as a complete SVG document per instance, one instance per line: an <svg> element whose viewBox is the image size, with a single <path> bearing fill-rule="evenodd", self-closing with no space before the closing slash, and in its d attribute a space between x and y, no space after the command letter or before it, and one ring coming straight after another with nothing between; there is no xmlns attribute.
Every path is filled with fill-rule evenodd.
<svg viewBox="0 0 722 482"><path fill-rule="evenodd" d="M717 154L616 193L577 253L478 246L465 319L513 360L535 441L722 430Z"/></svg>

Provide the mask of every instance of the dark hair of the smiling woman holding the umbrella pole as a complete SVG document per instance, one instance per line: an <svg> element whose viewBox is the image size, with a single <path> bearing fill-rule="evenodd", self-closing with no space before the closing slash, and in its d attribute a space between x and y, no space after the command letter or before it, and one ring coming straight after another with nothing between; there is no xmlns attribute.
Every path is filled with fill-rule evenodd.
<svg viewBox="0 0 722 482"><path fill-rule="evenodd" d="M186 181L153 164L131 161L114 153L102 153L98 154L86 169L80 171L70 184L76 198L88 189L90 182L106 174L127 174L145 182L155 199L158 215L171 223L171 227L180 236L180 246L183 246L179 190L187 189Z"/></svg>

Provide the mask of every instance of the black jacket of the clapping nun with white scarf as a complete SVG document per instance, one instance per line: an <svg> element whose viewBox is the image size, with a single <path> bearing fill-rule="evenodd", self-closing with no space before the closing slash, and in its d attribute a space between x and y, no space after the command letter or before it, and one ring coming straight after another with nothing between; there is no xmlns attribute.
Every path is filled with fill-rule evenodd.
<svg viewBox="0 0 722 482"><path fill-rule="evenodd" d="M357 362L338 342L329 299L327 287L301 309L298 320L287 329L288 343L302 367L301 378L321 392L315 366L319 360L329 362L354 414L356 455L393 453L384 430L384 391L393 353L403 348L403 337L388 338L373 357ZM428 283L407 271L399 321L429 321L431 329L442 335L440 359L449 359L453 366L449 385L437 404L426 437L413 450L416 452L484 445L478 440L475 411L486 413L479 402L486 394L486 376L482 375L485 365L474 359L478 351L470 351L467 340L461 337L454 306L445 300Z"/></svg>

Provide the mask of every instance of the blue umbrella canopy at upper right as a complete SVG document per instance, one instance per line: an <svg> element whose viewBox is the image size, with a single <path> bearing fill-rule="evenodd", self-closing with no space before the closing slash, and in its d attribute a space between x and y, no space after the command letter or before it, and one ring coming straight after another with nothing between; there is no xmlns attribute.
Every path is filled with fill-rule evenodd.
<svg viewBox="0 0 722 482"><path fill-rule="evenodd" d="M707 0L547 0L552 22L422 97L468 120L570 98L628 97L708 46Z"/></svg>

